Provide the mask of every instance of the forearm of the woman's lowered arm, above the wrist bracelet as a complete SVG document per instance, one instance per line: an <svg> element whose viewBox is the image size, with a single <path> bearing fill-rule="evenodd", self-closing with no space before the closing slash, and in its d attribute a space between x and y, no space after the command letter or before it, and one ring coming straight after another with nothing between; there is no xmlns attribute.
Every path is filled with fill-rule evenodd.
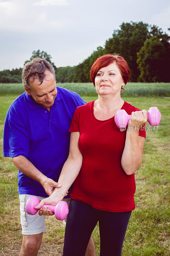
<svg viewBox="0 0 170 256"><path fill-rule="evenodd" d="M55 190L58 190L63 195L66 194L67 190L71 187L72 183L78 176L78 173L80 172L81 166L82 166L82 160L83 157L78 159L69 158L63 165L58 183L62 185L61 188L55 188Z"/></svg>

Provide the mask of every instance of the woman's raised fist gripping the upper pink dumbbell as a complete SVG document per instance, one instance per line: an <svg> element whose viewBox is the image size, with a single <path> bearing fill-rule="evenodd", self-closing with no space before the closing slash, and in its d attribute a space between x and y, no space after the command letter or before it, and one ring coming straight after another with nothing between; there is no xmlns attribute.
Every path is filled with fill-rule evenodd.
<svg viewBox="0 0 170 256"><path fill-rule="evenodd" d="M142 125L144 125L148 120L148 113L145 109L142 111L132 112L131 117L128 122L128 130L139 131Z"/></svg>

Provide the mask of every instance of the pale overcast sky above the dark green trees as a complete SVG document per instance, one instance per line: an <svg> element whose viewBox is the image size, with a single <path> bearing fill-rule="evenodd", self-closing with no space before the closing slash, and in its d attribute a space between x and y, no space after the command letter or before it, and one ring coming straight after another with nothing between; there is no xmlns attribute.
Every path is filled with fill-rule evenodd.
<svg viewBox="0 0 170 256"><path fill-rule="evenodd" d="M56 67L78 65L122 22L143 21L168 33L168 0L0 0L0 70L23 67L32 52Z"/></svg>

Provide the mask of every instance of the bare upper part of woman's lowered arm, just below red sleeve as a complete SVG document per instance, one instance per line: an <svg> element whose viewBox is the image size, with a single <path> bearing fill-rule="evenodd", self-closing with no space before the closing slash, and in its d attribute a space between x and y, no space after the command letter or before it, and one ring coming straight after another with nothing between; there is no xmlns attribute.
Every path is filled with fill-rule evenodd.
<svg viewBox="0 0 170 256"><path fill-rule="evenodd" d="M83 160L82 153L78 147L80 132L71 132L69 157L74 160Z"/></svg>

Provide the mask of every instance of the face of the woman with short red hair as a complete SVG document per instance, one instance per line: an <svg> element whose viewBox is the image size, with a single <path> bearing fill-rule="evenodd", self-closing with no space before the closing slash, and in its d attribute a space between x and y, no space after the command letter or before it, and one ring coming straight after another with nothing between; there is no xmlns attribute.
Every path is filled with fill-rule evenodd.
<svg viewBox="0 0 170 256"><path fill-rule="evenodd" d="M99 95L120 94L122 85L123 78L115 62L100 68L96 74L95 87Z"/></svg>

